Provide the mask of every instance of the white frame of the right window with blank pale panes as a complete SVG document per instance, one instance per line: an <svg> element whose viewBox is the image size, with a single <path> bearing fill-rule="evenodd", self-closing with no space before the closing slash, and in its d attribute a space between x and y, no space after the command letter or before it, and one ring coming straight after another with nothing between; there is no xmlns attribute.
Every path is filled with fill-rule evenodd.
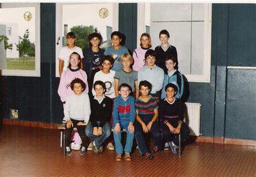
<svg viewBox="0 0 256 177"><path fill-rule="evenodd" d="M207 34L204 38L204 66L203 74L184 74L190 82L198 83L210 83L211 76L211 35L212 35L212 4L205 3L205 21L204 21L204 31ZM140 35L145 32L145 3L138 3L138 15L137 15L137 39L139 46Z"/></svg>

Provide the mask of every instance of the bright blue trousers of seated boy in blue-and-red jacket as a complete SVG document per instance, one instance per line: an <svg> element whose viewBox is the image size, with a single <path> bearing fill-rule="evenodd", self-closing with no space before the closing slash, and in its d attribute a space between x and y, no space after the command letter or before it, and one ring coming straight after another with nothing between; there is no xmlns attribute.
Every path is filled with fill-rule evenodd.
<svg viewBox="0 0 256 177"><path fill-rule="evenodd" d="M130 133L128 131L128 125L129 125L129 121L120 122L121 131L119 133L113 132L114 144L116 145L116 153L117 154L123 154L123 152L130 153L132 151L132 142L133 142L133 138L134 138L134 133ZM113 125L113 128L114 128L114 126L116 126L116 125ZM122 128L125 128L125 130L126 130L126 143L125 143L124 149L123 149L123 145L121 142Z"/></svg>

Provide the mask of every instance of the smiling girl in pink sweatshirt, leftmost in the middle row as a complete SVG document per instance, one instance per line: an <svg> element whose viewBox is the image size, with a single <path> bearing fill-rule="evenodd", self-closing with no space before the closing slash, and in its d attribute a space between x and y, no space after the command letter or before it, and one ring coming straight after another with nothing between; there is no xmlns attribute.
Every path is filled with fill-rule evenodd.
<svg viewBox="0 0 256 177"><path fill-rule="evenodd" d="M80 69L80 61L81 61L81 57L77 52L71 53L70 58L69 58L69 69L64 70L62 72L62 76L60 77L58 94L59 94L60 100L63 103L64 108L65 108L66 98L71 93L73 93L73 91L70 87L70 83L73 79L79 78L79 79L83 80L84 83L86 84L83 92L88 93L88 91L89 91L88 84L87 84L87 75L83 70ZM77 137L77 138L75 138L75 142L77 142L77 145L75 145L76 147L74 147L74 149L79 149L82 140L80 139L79 135L76 133L72 134L71 139L74 139L73 137Z"/></svg>

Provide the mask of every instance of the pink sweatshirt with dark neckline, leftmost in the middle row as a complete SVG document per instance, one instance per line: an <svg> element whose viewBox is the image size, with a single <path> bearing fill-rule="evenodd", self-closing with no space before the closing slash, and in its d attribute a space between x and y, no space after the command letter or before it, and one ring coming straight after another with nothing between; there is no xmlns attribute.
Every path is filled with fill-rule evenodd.
<svg viewBox="0 0 256 177"><path fill-rule="evenodd" d="M60 97L60 100L62 102L66 101L66 97L69 96L69 94L73 93L70 87L70 83L73 79L79 78L84 81L86 88L84 90L84 93L89 92L88 83L87 83L87 75L85 71L81 69L73 70L73 69L67 69L62 72L62 76L60 77L59 82L59 88L58 88L58 94Z"/></svg>

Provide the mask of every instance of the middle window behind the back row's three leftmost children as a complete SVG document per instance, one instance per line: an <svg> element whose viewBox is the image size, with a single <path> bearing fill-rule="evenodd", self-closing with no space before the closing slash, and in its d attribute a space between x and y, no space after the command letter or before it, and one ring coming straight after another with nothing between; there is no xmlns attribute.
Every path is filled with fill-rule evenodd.
<svg viewBox="0 0 256 177"><path fill-rule="evenodd" d="M59 51L66 45L66 33L74 29L97 30L103 37L100 47L109 46L112 31L118 30L118 3L56 3L56 77L59 77ZM83 49L88 47L87 37L86 34L77 39L76 45Z"/></svg>

